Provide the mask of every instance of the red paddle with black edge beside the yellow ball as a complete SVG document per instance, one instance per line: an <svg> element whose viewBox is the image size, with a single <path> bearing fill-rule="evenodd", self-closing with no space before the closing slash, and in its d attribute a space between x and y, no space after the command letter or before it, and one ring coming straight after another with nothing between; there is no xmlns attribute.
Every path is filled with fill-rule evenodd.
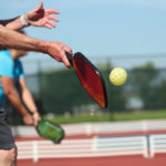
<svg viewBox="0 0 166 166"><path fill-rule="evenodd" d="M106 89L101 72L82 53L66 54L79 80L92 98L102 107L107 105Z"/></svg>

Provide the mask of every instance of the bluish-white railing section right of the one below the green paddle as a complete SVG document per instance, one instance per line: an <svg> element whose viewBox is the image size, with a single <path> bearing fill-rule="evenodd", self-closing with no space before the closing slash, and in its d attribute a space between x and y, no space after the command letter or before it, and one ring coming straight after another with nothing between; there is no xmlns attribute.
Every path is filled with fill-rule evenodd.
<svg viewBox="0 0 166 166"><path fill-rule="evenodd" d="M148 157L146 136L96 137L95 151L115 155L143 155Z"/></svg>

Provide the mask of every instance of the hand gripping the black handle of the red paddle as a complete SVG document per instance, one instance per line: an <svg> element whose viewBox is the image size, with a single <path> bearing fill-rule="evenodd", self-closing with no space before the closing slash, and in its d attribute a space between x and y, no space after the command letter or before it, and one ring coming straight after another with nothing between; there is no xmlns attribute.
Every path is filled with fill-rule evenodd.
<svg viewBox="0 0 166 166"><path fill-rule="evenodd" d="M65 55L65 52L72 54L71 48L61 42L48 42L45 49L46 53L55 59L58 62L63 62L66 68L71 68L71 64Z"/></svg>

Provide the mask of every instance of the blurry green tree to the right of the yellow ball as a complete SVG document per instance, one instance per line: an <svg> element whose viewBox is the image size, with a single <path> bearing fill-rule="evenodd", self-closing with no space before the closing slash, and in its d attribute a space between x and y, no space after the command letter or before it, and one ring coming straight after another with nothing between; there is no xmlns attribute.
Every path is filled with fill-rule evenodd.
<svg viewBox="0 0 166 166"><path fill-rule="evenodd" d="M144 108L153 108L155 104L155 86L158 71L153 63L134 68L131 71L131 84L135 94L144 102Z"/></svg>

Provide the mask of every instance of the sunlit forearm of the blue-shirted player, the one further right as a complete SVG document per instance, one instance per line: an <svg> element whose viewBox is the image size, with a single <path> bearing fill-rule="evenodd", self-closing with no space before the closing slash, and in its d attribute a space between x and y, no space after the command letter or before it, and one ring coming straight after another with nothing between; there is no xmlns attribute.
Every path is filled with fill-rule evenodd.
<svg viewBox="0 0 166 166"><path fill-rule="evenodd" d="M30 93L28 89L23 90L21 97L22 97L23 103L25 104L25 106L28 107L30 112L33 113L38 111L34 100L32 97L32 94Z"/></svg>

